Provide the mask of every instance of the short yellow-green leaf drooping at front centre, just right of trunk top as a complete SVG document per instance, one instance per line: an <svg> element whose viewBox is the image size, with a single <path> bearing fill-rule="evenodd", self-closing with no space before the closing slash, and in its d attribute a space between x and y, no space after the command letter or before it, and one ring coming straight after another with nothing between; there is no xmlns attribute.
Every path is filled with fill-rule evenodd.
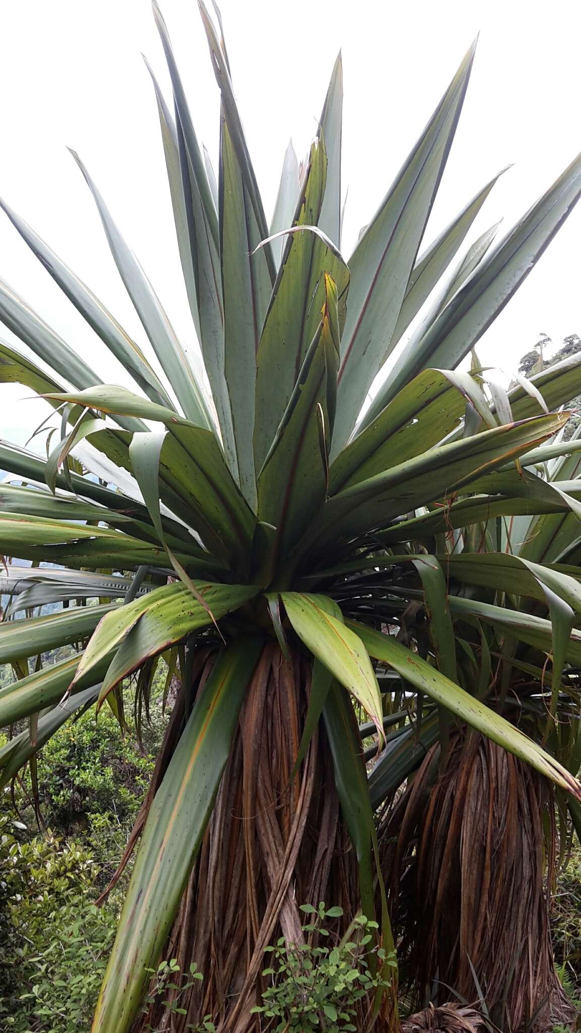
<svg viewBox="0 0 581 1033"><path fill-rule="evenodd" d="M299 638L317 660L335 676L375 722L379 741L384 738L381 695L369 656L357 634L353 634L329 612L331 600L303 592L281 592L290 624Z"/></svg>

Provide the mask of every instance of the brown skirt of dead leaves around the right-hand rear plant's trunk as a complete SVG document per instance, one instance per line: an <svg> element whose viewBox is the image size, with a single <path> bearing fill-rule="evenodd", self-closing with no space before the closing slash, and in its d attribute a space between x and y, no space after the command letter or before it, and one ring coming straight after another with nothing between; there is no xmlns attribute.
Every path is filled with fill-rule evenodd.
<svg viewBox="0 0 581 1033"><path fill-rule="evenodd" d="M549 929L551 789L481 735L457 737L439 771L438 749L380 835L404 981L419 1007L482 991L499 1029L551 1030L573 1012Z"/></svg>

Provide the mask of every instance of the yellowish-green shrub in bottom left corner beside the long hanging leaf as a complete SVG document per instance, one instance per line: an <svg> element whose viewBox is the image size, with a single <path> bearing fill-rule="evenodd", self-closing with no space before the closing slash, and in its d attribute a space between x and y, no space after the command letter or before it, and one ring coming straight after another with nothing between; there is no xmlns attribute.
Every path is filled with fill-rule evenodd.
<svg viewBox="0 0 581 1033"><path fill-rule="evenodd" d="M90 1028L117 915L93 903L98 871L84 847L24 832L0 815L0 1027L80 1033Z"/></svg>

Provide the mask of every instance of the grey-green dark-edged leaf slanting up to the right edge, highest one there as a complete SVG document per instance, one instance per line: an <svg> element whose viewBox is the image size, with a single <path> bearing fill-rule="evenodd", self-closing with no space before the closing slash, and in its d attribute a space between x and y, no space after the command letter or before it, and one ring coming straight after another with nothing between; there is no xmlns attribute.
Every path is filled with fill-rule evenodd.
<svg viewBox="0 0 581 1033"><path fill-rule="evenodd" d="M419 341L410 342L388 376L389 401L428 366L454 369L504 308L581 195L576 158L495 248Z"/></svg>

